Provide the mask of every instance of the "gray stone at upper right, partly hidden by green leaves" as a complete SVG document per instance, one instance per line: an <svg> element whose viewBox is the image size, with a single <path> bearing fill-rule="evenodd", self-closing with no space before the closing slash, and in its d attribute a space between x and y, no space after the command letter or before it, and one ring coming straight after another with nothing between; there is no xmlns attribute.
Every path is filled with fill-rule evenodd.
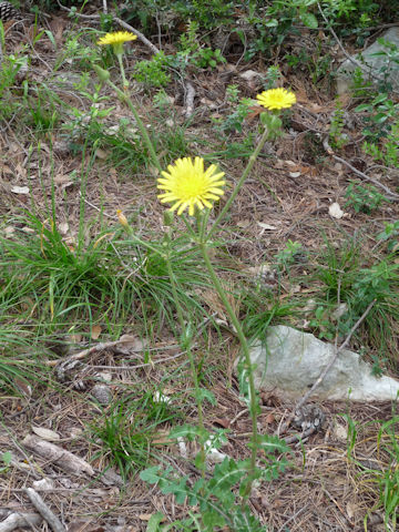
<svg viewBox="0 0 399 532"><path fill-rule="evenodd" d="M381 38L399 48L399 27L390 28L381 35ZM361 52L362 59L360 58L360 54L352 55L352 59L361 64L365 80L370 80L374 83L378 82L378 80L372 78L370 72L372 75L382 79L383 76L380 70L388 65L388 80L397 91L399 90L399 64L393 61L388 64L388 60L385 55L374 55L381 51L386 51L386 49L376 41ZM339 66L337 71L338 94L344 94L349 91L350 85L352 84L352 73L360 65L355 64L349 59L344 61Z"/></svg>

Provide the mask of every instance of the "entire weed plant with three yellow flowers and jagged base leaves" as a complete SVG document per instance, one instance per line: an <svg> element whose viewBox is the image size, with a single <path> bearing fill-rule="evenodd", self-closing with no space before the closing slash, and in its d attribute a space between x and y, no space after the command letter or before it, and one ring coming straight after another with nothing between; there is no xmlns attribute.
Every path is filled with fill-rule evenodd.
<svg viewBox="0 0 399 532"><path fill-rule="evenodd" d="M132 40L129 33L110 33L99 42L101 44L106 43L112 45L114 53L122 55L123 43L127 40ZM134 115L153 165L162 176L157 180L157 188L163 191L163 193L158 195L161 203L173 204L164 216L166 231L163 237L163 248L162 250L152 248L152 246L151 248L158 253L160 264L164 265L165 273L167 273L167 282L172 289L177 318L175 335L190 361L194 385L193 396L198 416L197 427L183 426L172 430L170 433L171 438L178 439L185 437L195 439L198 443L200 452L196 454L194 463L198 469L201 478L195 482L194 487L192 482L188 481L188 478L181 479L180 475L176 475L173 468L170 467L163 468L162 466L154 466L142 471L141 478L150 483L158 484L161 491L164 493L173 493L177 502L183 502L187 499L191 505L195 507L198 504L200 513L194 514L192 524L198 523L200 530L211 532L215 526L228 525L237 531L249 532L257 530L260 532L264 530L264 526L262 526L259 521L252 514L247 504L252 485L255 480L268 481L275 478L279 471L283 471L286 464L285 460L276 460L274 453L286 452L288 449L278 438L260 436L258 433L257 413L259 406L254 385L248 341L244 335L238 316L227 297L224 285L212 264L209 250L214 245L213 235L215 231L228 213L235 196L250 174L265 142L267 140L276 140L280 136L280 129L283 126L283 121L279 116L280 111L290 108L296 102L296 98L293 93L284 89L265 91L257 96L259 104L269 110L269 113L263 113L260 115L260 121L264 125L263 135L253 155L249 157L248 164L233 190L233 193L213 224L209 225L208 221L213 203L224 194L224 172L219 172L215 164L205 170L204 160L198 156L195 157L194 161L191 157L178 158L174 165L170 164L167 166L167 172L163 171L156 149L129 96L129 83L123 72L123 61L120 60L119 63L123 80L123 91L111 81L108 71L96 64L93 65L93 69L100 80L108 83L108 85L114 90L120 100L129 106ZM188 211L188 218L183 214L186 209ZM174 223L172 214L174 211L182 217L185 228L184 232ZM127 218L122 212L119 212L119 221L132 244L141 244L134 228L129 224ZM205 400L214 403L215 398L200 381L198 369L193 352L194 324L191 318L191 311L185 306L185 301L178 291L181 289L178 279L181 273L176 270L174 265L174 243L180 238L188 238L192 249L195 249L195 252L200 254L202 258L201 267L205 266L212 285L223 303L228 318L239 338L242 347L242 359L238 364L241 392L248 407L252 420L250 458L236 461L226 457L221 464L215 467L211 479L206 479L205 477L206 456L209 448L207 442L215 441L215 437L205 428L203 403ZM186 248L183 248L183 250L186 253ZM260 460L259 463L263 464L262 468L257 466L257 460ZM235 487L237 492L232 492ZM241 501L239 505L238 501ZM228 513L226 513L226 511ZM182 523L174 523L174 525L177 524L182 525Z"/></svg>

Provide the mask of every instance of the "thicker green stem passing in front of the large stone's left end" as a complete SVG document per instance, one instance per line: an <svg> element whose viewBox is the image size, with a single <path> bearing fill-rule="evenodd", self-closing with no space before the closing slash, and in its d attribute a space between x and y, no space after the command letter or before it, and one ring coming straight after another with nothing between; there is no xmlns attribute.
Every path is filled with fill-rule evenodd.
<svg viewBox="0 0 399 532"><path fill-rule="evenodd" d="M257 401L256 401L256 391L255 391L255 382L254 382L254 376L252 372L252 364L250 364L250 356L249 356L249 348L248 348L248 342L247 339L245 338L245 335L243 332L243 328L238 321L238 318L229 304L225 289L222 286L222 283L219 282L215 269L212 265L212 262L209 259L206 242L201 242L200 243L200 249L202 252L202 255L204 257L205 265L207 267L207 270L209 273L211 279L213 282L213 285L215 286L217 294L219 295L219 298L223 301L223 305L225 306L227 314L232 320L233 326L235 327L236 334L238 336L239 342L242 345L242 349L244 352L244 358L245 358L245 366L246 369L248 370L248 383L249 383L249 413L250 413L250 419L252 419L252 449L250 449L250 469L249 469L249 477L253 477L256 470L256 450L257 450L257 441L258 441L258 431L257 431ZM250 492L250 485L252 482L248 484L247 493L246 495L249 494Z"/></svg>

